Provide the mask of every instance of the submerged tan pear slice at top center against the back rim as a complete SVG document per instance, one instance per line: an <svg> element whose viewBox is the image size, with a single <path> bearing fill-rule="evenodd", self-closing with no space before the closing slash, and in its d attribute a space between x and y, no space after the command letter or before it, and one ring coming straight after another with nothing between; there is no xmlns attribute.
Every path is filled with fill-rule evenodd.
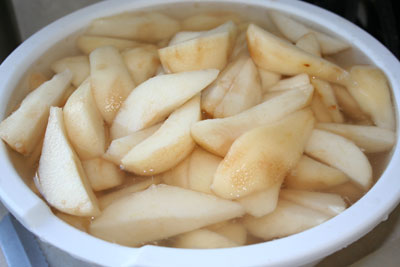
<svg viewBox="0 0 400 267"><path fill-rule="evenodd" d="M241 20L236 14L229 13L204 13L190 16L182 21L185 31L208 31L228 21L239 23Z"/></svg>

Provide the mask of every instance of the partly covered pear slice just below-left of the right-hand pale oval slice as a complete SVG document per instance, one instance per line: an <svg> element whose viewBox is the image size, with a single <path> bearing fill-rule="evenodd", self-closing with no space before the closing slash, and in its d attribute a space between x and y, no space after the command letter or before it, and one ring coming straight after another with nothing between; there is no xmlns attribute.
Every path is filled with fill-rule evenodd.
<svg viewBox="0 0 400 267"><path fill-rule="evenodd" d="M299 163L285 178L288 188L309 191L324 190L349 181L342 171L310 157L302 156Z"/></svg>

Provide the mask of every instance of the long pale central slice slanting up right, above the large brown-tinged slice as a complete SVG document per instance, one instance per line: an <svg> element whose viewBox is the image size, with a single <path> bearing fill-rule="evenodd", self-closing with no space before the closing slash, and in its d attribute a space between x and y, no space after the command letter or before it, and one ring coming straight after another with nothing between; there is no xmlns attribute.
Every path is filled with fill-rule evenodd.
<svg viewBox="0 0 400 267"><path fill-rule="evenodd" d="M204 149L224 157L233 141L244 132L304 108L312 93L313 87L308 85L289 90L234 116L200 121L193 125L192 136Z"/></svg>

